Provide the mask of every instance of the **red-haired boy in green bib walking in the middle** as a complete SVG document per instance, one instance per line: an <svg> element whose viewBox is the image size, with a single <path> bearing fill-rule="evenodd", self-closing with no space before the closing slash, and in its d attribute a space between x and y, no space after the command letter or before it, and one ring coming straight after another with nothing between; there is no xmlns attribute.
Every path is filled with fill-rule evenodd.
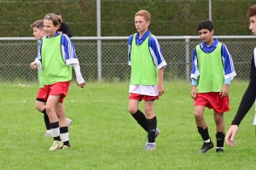
<svg viewBox="0 0 256 170"><path fill-rule="evenodd" d="M148 133L146 150L155 150L155 138L160 133L154 114L154 99L164 94L164 67L166 60L157 38L148 30L150 14L140 10L135 14L137 33L128 38L128 64L131 65L128 111ZM138 110L145 100L145 114Z"/></svg>

